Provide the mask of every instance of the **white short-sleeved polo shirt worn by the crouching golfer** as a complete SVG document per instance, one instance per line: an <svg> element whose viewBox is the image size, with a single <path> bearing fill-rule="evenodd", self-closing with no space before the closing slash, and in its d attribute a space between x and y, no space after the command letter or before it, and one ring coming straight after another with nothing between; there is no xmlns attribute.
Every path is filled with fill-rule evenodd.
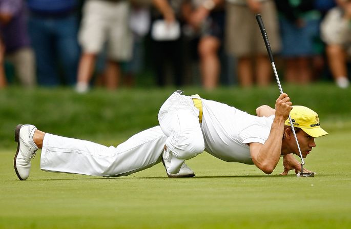
<svg viewBox="0 0 351 229"><path fill-rule="evenodd" d="M274 115L257 117L220 102L202 99L205 151L228 162L253 164L247 143L264 143Z"/></svg>

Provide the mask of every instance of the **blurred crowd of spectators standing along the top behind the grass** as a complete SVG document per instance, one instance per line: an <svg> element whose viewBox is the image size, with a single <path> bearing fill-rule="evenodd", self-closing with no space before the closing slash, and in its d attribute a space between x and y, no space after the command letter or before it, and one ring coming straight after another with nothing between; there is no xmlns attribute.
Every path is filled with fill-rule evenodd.
<svg viewBox="0 0 351 229"><path fill-rule="evenodd" d="M351 0L0 0L0 88L349 87Z"/></svg>

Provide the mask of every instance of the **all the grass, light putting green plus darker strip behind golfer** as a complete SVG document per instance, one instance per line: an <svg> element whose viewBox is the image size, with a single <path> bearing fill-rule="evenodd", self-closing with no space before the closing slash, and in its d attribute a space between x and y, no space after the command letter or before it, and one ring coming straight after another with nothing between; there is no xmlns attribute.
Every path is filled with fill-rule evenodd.
<svg viewBox="0 0 351 229"><path fill-rule="evenodd" d="M170 179L157 164L127 177L99 178L39 170L39 152L27 181L13 171L13 128L33 123L43 131L116 145L157 124L163 100L175 89L69 89L0 91L0 228L350 228L350 90L334 85L284 86L294 103L320 115L328 136L306 158L313 178L272 175L253 165L226 163L207 153L189 160L196 177ZM275 86L186 88L187 94L253 113L274 106Z"/></svg>

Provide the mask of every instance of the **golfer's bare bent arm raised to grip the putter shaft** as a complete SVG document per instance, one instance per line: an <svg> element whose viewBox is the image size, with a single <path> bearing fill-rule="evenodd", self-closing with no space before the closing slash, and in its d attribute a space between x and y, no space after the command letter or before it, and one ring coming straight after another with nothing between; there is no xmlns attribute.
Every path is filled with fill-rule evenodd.
<svg viewBox="0 0 351 229"><path fill-rule="evenodd" d="M279 162L284 121L291 110L290 98L285 93L281 94L276 101L275 118L268 139L264 144L250 143L250 154L254 164L266 174L271 174Z"/></svg>

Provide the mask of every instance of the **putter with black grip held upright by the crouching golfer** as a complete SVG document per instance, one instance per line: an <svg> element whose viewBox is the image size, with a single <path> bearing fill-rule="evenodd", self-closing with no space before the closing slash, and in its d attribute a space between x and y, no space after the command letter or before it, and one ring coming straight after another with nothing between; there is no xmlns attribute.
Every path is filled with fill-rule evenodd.
<svg viewBox="0 0 351 229"><path fill-rule="evenodd" d="M272 64L272 67L273 67L274 75L276 76L276 79L277 79L277 83L278 83L280 94L282 94L283 93L283 89L281 88L281 85L280 85L278 73L277 73L277 70L276 70L276 66L274 64L273 53L272 53L272 50L271 50L270 41L268 39L267 32L266 32L266 30L264 28L261 15L257 14L256 15L256 19L257 19L258 26L260 27L260 30L261 30L261 33L262 33L262 37L263 37L264 44L265 44L266 49L267 49L267 53L268 53L268 55L270 57L270 60L271 60L271 64ZM305 164L305 161L303 160L303 157L302 157L302 153L301 153L301 150L300 150L300 145L299 145L299 142L298 142L297 137L296 137L296 133L295 133L295 130L294 130L294 125L293 125L293 122L291 120L290 114L289 114L289 121L290 121L290 126L291 126L291 129L293 131L293 134L294 134L294 137L295 137L295 140L296 140L297 148L299 149L299 153L300 153L300 157L301 157L301 172L299 172L296 176L297 177L314 177L315 173L313 173L313 172L312 173L304 173L303 172L303 165Z"/></svg>

